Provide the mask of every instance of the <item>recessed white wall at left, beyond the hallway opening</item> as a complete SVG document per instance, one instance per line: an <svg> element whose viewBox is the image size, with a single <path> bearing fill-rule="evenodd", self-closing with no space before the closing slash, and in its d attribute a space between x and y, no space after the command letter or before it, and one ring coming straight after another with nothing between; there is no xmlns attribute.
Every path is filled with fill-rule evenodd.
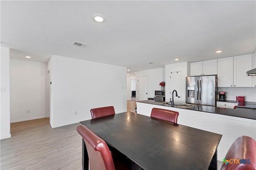
<svg viewBox="0 0 256 170"><path fill-rule="evenodd" d="M46 63L10 59L11 122L46 117L46 68Z"/></svg>

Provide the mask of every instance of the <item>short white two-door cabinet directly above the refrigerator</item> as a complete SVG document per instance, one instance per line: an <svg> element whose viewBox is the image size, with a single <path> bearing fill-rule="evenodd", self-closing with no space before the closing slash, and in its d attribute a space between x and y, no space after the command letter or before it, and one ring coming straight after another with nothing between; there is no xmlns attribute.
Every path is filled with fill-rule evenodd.
<svg viewBox="0 0 256 170"><path fill-rule="evenodd" d="M190 76L217 74L217 59L190 63Z"/></svg>

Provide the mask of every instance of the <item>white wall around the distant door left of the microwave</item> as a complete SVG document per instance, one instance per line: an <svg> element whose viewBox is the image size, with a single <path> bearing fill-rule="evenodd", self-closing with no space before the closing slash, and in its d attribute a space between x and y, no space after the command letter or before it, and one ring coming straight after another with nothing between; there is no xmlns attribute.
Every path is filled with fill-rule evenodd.
<svg viewBox="0 0 256 170"><path fill-rule="evenodd" d="M140 76L148 76L148 98L154 98L155 90L161 90L160 82L165 82L164 68L138 71L136 74L136 89L138 89L138 77ZM136 101L138 101L138 95L136 95Z"/></svg>

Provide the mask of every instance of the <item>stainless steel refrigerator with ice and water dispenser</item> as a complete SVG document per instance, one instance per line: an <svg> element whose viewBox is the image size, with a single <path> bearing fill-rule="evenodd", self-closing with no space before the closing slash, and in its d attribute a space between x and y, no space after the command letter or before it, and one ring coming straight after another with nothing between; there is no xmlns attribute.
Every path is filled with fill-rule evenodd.
<svg viewBox="0 0 256 170"><path fill-rule="evenodd" d="M186 103L216 106L217 75L186 77Z"/></svg>

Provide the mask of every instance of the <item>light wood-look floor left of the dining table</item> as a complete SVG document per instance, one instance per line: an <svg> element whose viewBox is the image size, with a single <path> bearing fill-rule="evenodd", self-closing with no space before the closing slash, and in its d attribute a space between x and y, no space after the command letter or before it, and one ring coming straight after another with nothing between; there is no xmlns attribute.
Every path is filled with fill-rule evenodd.
<svg viewBox="0 0 256 170"><path fill-rule="evenodd" d="M0 141L0 169L81 170L79 124L52 129L49 118L11 123L12 137Z"/></svg>

